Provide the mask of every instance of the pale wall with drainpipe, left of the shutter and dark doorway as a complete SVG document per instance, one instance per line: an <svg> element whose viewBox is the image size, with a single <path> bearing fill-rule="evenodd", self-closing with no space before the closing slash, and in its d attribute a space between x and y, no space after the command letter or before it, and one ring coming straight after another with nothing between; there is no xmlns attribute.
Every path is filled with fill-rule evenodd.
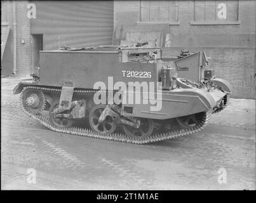
<svg viewBox="0 0 256 203"><path fill-rule="evenodd" d="M16 14L16 46L17 46L17 71L15 76L30 76L30 19L27 18L27 4L29 1L14 1ZM14 66L14 39L13 39L13 1L1 1L1 22L10 25L10 34L4 50L1 63L2 75L13 75ZM22 44L24 39L25 44Z"/></svg>

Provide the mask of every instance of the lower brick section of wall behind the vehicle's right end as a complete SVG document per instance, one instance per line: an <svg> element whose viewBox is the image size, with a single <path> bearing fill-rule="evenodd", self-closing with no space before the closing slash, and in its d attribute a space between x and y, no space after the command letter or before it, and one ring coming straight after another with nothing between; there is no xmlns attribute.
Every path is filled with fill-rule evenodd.
<svg viewBox="0 0 256 203"><path fill-rule="evenodd" d="M254 98L255 95L255 49L239 48L190 48L191 51L205 51L210 58L208 69L215 75L229 81L233 88L234 98ZM163 48L164 56L176 56L180 48Z"/></svg>

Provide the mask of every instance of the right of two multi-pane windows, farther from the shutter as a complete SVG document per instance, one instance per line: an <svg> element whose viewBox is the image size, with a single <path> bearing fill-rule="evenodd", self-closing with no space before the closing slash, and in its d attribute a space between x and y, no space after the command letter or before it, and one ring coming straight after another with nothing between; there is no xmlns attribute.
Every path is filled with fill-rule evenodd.
<svg viewBox="0 0 256 203"><path fill-rule="evenodd" d="M238 0L195 0L195 22L238 21Z"/></svg>

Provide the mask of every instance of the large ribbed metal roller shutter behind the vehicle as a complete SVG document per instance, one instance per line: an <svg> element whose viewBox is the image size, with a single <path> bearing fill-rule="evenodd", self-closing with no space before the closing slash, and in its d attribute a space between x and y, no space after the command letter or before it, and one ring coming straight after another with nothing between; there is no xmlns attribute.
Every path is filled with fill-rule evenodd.
<svg viewBox="0 0 256 203"><path fill-rule="evenodd" d="M44 34L44 49L111 45L113 1L32 1L31 34Z"/></svg>

